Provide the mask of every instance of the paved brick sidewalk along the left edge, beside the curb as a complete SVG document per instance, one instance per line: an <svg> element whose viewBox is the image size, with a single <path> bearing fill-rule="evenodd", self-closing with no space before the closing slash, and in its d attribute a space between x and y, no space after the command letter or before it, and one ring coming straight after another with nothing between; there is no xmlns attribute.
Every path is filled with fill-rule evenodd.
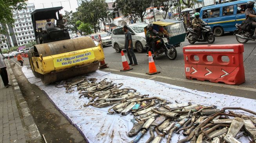
<svg viewBox="0 0 256 143"><path fill-rule="evenodd" d="M7 65L6 62L5 64ZM24 129L15 101L15 89L18 84L8 67L6 70L9 84L12 86L5 88L2 79L0 80L0 142L25 143Z"/></svg>

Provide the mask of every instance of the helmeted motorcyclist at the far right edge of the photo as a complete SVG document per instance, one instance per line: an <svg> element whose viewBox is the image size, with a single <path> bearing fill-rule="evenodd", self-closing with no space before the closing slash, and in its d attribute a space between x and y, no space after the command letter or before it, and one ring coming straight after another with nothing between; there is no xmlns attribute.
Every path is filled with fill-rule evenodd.
<svg viewBox="0 0 256 143"><path fill-rule="evenodd" d="M256 19L255 19L256 13L253 10L254 3L255 2L252 2L252 1L247 2L246 4L247 9L245 10L245 16L246 16L245 20L247 22L251 22L251 27L255 28L252 38L256 39Z"/></svg>

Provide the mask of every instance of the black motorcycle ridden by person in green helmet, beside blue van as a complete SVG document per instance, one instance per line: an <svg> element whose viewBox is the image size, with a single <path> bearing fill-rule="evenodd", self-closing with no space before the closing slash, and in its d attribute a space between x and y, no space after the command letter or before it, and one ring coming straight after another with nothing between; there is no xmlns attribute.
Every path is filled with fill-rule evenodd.
<svg viewBox="0 0 256 143"><path fill-rule="evenodd" d="M211 27L206 25L207 23L202 23L202 25L199 27L201 29L201 35L203 36L203 39L198 39L197 32L194 32L192 28L187 29L188 32L186 38L189 40L189 43L194 44L195 42L207 41L209 44L211 44L215 41L215 36Z"/></svg>

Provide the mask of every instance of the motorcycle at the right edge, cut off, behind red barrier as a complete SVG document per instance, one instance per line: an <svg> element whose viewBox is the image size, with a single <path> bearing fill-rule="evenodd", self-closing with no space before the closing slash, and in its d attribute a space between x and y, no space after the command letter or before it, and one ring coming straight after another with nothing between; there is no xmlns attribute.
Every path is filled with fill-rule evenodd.
<svg viewBox="0 0 256 143"><path fill-rule="evenodd" d="M249 40L255 41L254 38L252 38L254 34L254 29L250 29L249 32L246 32L245 30L241 29L241 24L236 24L236 30L234 30L234 35L236 35L236 41L239 43L246 43Z"/></svg>

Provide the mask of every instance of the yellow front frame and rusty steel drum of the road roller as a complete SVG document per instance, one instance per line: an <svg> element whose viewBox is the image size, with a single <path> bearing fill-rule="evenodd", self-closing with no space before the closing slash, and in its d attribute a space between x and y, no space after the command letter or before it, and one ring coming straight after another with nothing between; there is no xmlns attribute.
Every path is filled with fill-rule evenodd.
<svg viewBox="0 0 256 143"><path fill-rule="evenodd" d="M94 72L103 60L103 48L82 37L35 45L30 64L34 75L47 84Z"/></svg>

